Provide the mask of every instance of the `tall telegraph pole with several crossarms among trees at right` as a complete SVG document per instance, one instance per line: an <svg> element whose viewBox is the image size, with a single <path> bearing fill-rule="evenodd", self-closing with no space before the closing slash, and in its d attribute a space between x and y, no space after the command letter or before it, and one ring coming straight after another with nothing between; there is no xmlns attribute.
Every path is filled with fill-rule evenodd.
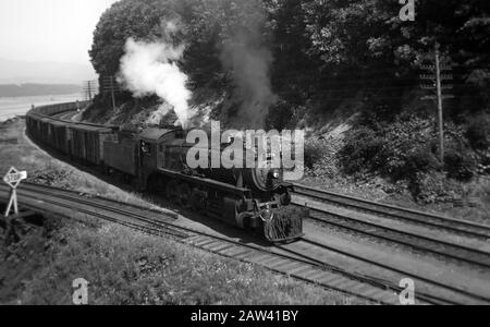
<svg viewBox="0 0 490 327"><path fill-rule="evenodd" d="M453 98L452 95L443 95L443 89L453 88L452 85L442 85L443 81L451 81L453 76L451 74L442 74L442 71L451 72L450 65L441 63L441 53L439 44L434 47L434 56L431 59L433 65L422 65L421 69L429 71L429 74L420 75L420 80L431 81L432 85L421 85L422 89L434 92L436 95L425 96L422 100L437 100L438 104L438 124L439 124L439 147L440 147L440 161L444 164L444 111L443 100Z"/></svg>

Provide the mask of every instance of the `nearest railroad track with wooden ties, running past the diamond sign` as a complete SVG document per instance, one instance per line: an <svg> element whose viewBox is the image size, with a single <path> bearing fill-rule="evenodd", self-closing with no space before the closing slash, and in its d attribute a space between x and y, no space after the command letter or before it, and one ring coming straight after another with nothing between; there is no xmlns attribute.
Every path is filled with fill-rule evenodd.
<svg viewBox="0 0 490 327"><path fill-rule="evenodd" d="M7 187L0 186L0 193L5 194ZM26 184L19 189L19 196L23 204L34 210L46 210L46 206L57 206L77 213L94 216L113 223L119 223L145 233L171 237L175 241L189 244L197 249L215 253L224 257L238 259L262 266L271 271L291 276L306 282L316 283L327 289L356 295L382 304L400 304L397 294L402 291L397 284L379 278L353 274L309 256L306 253L295 253L286 246L278 246L283 253L258 245L244 244L223 237L205 233L185 228L172 222L171 217L162 218L156 210L128 206L115 201L100 197L83 197L76 192L40 185ZM314 241L302 240L315 246L323 246ZM425 281L431 282L431 281ZM433 283L433 282L432 282ZM437 283L434 283L437 284ZM468 294L448 286L438 286L446 291L456 292L463 298L461 301L453 296L439 296L430 293L417 292L419 304L467 304L490 303L476 294ZM456 296L457 298L457 296Z"/></svg>

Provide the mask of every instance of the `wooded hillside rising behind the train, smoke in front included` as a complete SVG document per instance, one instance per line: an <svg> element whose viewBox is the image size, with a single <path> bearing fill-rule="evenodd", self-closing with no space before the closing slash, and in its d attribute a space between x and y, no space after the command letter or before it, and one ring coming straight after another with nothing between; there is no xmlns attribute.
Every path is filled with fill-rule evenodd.
<svg viewBox="0 0 490 327"><path fill-rule="evenodd" d="M90 51L100 85L118 78L117 109L101 92L84 119L305 129L316 179L382 180L384 194L422 204L465 199L490 173L490 9L424 0L415 22L400 10L391 0L119 1ZM433 94L420 87L436 49L452 78L443 156Z"/></svg>

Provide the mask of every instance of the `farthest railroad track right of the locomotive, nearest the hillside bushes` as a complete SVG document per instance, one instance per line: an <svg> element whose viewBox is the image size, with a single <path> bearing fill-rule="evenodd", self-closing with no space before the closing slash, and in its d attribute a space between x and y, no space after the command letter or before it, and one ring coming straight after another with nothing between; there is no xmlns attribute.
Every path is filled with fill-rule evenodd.
<svg viewBox="0 0 490 327"><path fill-rule="evenodd" d="M326 190L309 187L302 184L294 184L295 194L306 196L322 203L335 206L352 208L358 211L373 214L390 219L418 223L425 227L437 228L449 232L490 240L490 226L475 223L466 220L448 218L443 216L421 213L413 209L401 208L388 204L375 203L371 201L342 195Z"/></svg>

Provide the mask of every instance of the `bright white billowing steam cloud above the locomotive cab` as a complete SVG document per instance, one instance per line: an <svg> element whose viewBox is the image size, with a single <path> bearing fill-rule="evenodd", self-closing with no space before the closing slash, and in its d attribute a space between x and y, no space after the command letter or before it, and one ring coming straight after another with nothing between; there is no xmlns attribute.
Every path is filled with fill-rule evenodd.
<svg viewBox="0 0 490 327"><path fill-rule="evenodd" d="M172 29L174 25L168 24L167 27ZM130 38L121 59L119 80L135 97L158 95L173 107L179 123L186 128L193 117L188 107L192 93L186 87L187 75L175 63L182 59L183 52L183 46L174 47L164 41L135 41ZM163 104L157 116L164 116L168 109Z"/></svg>

